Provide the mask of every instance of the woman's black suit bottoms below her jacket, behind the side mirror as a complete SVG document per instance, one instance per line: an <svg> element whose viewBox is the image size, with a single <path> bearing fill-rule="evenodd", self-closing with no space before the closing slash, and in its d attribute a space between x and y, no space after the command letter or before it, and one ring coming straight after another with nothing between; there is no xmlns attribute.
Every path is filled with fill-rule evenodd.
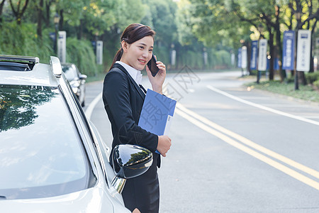
<svg viewBox="0 0 319 213"><path fill-rule="evenodd" d="M126 180L122 195L125 207L133 211L138 208L141 213L159 212L159 181L157 161L159 154L154 153L153 163L146 173Z"/></svg>

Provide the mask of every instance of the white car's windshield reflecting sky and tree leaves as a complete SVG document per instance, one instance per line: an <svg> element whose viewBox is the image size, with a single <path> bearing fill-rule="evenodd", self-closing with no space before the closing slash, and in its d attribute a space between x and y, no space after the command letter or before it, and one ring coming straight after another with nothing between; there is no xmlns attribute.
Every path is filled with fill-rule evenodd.
<svg viewBox="0 0 319 213"><path fill-rule="evenodd" d="M84 190L84 148L57 87L0 85L0 197L38 198Z"/></svg>

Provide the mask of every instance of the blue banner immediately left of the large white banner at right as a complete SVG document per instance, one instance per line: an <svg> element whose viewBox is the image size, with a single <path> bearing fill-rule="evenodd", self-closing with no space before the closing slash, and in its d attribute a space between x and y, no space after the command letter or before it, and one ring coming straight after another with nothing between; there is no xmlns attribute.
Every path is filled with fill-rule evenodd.
<svg viewBox="0 0 319 213"><path fill-rule="evenodd" d="M295 61L295 31L284 31L284 45L282 51L282 69L293 70Z"/></svg>

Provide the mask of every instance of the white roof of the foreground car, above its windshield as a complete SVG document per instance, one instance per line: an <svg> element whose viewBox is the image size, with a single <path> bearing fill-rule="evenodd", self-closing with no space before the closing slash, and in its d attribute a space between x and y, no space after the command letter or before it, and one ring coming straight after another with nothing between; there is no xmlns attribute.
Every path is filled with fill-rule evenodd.
<svg viewBox="0 0 319 213"><path fill-rule="evenodd" d="M11 59L6 60L5 58L7 57L11 57ZM23 57L15 55L0 55L0 60L6 60L6 62L9 62L12 66L14 66L15 62L23 60ZM28 58L28 60L29 59L30 58ZM50 65L39 63L39 59L35 58L32 70L29 71L4 70L4 68L0 68L0 84L57 87L59 85L57 78L61 75L55 74L55 72L60 71L59 69L61 69L61 65L59 68L59 64L60 60L51 56Z"/></svg>

